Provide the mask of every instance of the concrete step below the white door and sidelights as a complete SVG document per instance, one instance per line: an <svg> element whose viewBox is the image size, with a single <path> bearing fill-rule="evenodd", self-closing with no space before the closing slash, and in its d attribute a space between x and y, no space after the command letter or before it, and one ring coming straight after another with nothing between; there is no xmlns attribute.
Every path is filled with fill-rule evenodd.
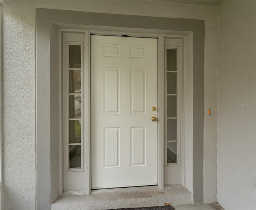
<svg viewBox="0 0 256 210"><path fill-rule="evenodd" d="M60 196L52 204L52 210L106 210L148 206L173 206L192 204L192 194L186 188L134 190L90 195Z"/></svg>

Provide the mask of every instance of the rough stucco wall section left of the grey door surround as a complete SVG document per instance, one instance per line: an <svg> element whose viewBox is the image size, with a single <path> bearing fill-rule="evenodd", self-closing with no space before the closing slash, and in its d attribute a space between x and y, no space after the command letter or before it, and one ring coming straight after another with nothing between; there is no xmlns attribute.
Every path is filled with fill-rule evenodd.
<svg viewBox="0 0 256 210"><path fill-rule="evenodd" d="M35 40L31 16L32 10L26 7L2 6L3 209L33 209L36 202Z"/></svg>

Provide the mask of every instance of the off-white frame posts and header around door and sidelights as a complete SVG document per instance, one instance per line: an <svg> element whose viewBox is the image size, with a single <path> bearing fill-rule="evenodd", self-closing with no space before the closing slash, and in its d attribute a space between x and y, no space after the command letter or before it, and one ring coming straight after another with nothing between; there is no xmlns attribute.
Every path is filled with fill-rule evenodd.
<svg viewBox="0 0 256 210"><path fill-rule="evenodd" d="M83 82L87 83L83 87L83 130L84 130L84 170L85 170L85 194L91 194L91 95L90 95L90 35L105 35L105 36L122 36L127 35L129 37L140 37L140 38L157 38L158 39L158 188L164 189L164 160L165 160L165 143L164 143L164 93L165 93L165 72L164 72L164 38L178 38L183 39L185 36L177 36L177 35L165 35L165 34L146 34L146 33L134 33L134 32L112 32L112 31L100 31L100 30L72 30L72 29L59 29L59 40L61 40L62 32L84 32L84 73L83 73ZM60 41L60 49L61 49L61 41ZM185 48L185 43L183 48ZM60 50L61 53L61 50ZM184 54L184 53L183 53ZM184 55L183 55L184 57ZM185 57L182 60L182 63L185 63ZM185 65L183 65L183 69L185 69ZM61 65L60 65L60 74L61 74ZM61 77L60 77L61 78ZM184 81L184 79L182 79ZM61 81L60 81L61 83ZM182 102L185 102L185 83L182 83ZM61 89L60 89L61 91ZM61 94L60 94L61 95ZM60 100L61 101L61 100ZM182 107L183 109L183 107ZM184 110L184 109L183 109ZM60 108L60 112L61 112ZM61 114L60 114L61 116ZM182 185L185 186L185 120L184 120L184 111L182 114L182 127L184 129L181 130L182 141L181 141L181 164L183 165L182 172ZM60 132L61 133L61 132ZM60 135L60 148L62 145L62 137ZM60 149L60 151L62 151ZM62 155L60 154L60 194L62 194ZM111 190L111 189L110 189ZM106 191L106 190L105 190Z"/></svg>

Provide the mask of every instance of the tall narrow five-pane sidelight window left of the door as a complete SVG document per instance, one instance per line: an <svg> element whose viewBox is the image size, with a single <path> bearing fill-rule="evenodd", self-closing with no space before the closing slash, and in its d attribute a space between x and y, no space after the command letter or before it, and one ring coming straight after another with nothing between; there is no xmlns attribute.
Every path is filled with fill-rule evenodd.
<svg viewBox="0 0 256 210"><path fill-rule="evenodd" d="M83 170L82 43L66 42L66 149L67 170Z"/></svg>

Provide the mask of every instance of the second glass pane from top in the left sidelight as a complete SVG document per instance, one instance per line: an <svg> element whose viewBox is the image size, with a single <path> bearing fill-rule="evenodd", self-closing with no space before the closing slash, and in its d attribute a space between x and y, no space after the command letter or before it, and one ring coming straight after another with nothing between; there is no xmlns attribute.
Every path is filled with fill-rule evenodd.
<svg viewBox="0 0 256 210"><path fill-rule="evenodd" d="M81 93L81 70L69 70L68 74L68 92Z"/></svg>

